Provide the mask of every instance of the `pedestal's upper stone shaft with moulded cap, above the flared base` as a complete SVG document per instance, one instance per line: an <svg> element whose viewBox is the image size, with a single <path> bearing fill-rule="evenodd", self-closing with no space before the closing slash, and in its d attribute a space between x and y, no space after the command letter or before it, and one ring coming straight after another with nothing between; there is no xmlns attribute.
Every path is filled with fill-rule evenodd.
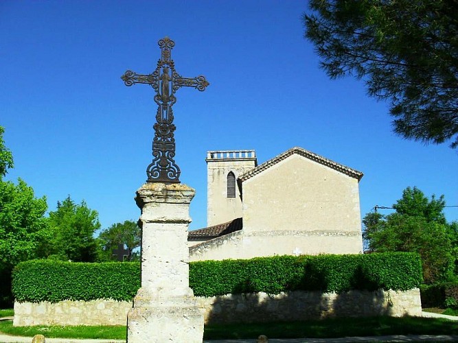
<svg viewBox="0 0 458 343"><path fill-rule="evenodd" d="M137 191L141 207L141 287L151 294L187 296L187 227L194 189L182 184L147 183Z"/></svg>

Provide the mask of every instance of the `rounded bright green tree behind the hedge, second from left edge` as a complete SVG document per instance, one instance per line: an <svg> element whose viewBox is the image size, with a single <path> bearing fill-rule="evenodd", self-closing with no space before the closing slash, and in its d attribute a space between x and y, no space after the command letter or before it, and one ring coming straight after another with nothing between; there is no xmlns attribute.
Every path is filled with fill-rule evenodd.
<svg viewBox="0 0 458 343"><path fill-rule="evenodd" d="M76 262L98 259L99 246L93 237L100 228L98 213L89 209L84 200L76 204L68 196L58 202L56 211L49 213L49 227L54 237L49 251L58 259Z"/></svg>

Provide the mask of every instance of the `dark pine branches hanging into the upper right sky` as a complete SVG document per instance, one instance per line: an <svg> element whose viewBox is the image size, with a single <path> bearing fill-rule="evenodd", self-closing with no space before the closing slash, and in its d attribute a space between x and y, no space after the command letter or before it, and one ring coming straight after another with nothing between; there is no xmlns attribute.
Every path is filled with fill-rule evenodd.
<svg viewBox="0 0 458 343"><path fill-rule="evenodd" d="M305 36L330 78L390 102L401 137L458 146L458 16L449 0L310 0Z"/></svg>

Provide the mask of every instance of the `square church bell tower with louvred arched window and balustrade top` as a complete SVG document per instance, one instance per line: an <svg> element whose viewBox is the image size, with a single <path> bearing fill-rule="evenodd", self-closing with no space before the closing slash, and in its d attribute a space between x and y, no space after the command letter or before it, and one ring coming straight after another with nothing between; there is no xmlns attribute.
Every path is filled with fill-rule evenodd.
<svg viewBox="0 0 458 343"><path fill-rule="evenodd" d="M242 217L239 176L257 166L254 150L207 152L207 226Z"/></svg>

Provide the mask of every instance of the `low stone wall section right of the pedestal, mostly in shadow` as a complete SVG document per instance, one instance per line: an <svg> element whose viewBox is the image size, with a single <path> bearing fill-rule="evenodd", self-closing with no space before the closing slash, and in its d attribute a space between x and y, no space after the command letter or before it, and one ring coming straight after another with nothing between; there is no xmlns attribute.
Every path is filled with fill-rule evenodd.
<svg viewBox="0 0 458 343"><path fill-rule="evenodd" d="M343 294L288 292L199 298L205 323L272 322L329 317L421 316L420 290L351 291Z"/></svg>

